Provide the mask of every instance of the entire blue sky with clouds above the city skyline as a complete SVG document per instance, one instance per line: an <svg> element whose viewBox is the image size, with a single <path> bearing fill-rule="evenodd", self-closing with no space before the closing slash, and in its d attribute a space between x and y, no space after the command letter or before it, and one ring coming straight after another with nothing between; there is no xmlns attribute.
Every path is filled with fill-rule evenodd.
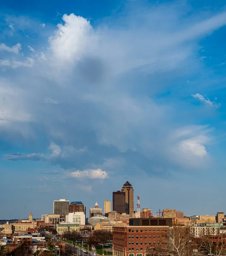
<svg viewBox="0 0 226 256"><path fill-rule="evenodd" d="M0 219L226 212L224 0L2 0Z"/></svg>

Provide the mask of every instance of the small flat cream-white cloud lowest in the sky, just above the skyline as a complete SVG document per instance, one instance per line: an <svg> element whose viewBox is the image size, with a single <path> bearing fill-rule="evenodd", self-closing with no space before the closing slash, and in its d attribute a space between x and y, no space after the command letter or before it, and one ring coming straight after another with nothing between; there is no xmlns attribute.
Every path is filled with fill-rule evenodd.
<svg viewBox="0 0 226 256"><path fill-rule="evenodd" d="M101 170L101 169L87 169L84 171L75 171L70 172L69 174L71 177L89 177L90 179L107 179L108 175L107 172Z"/></svg>

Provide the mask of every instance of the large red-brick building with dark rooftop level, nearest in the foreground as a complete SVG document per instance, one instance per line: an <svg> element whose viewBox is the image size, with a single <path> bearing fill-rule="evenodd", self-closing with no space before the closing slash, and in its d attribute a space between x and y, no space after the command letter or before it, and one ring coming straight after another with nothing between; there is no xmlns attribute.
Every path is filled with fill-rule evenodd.
<svg viewBox="0 0 226 256"><path fill-rule="evenodd" d="M171 218L130 218L128 226L113 227L113 256L145 256L145 250L163 243Z"/></svg>

